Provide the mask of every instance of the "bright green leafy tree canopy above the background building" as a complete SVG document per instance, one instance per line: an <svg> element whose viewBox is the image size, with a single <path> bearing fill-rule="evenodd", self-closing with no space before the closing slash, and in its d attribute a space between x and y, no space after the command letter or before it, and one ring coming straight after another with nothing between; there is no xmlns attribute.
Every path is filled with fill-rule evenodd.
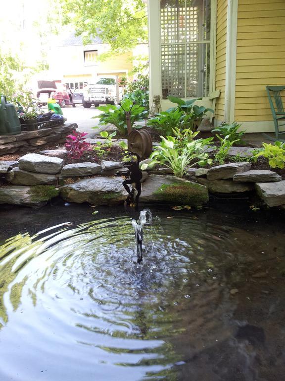
<svg viewBox="0 0 285 381"><path fill-rule="evenodd" d="M84 44L98 36L110 53L129 51L147 42L147 14L143 0L61 0L63 23L72 24Z"/></svg>

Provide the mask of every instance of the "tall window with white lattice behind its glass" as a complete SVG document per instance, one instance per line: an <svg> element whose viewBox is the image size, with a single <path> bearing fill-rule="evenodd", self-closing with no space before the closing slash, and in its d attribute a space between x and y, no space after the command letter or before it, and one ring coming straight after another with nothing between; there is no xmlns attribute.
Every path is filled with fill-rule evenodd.
<svg viewBox="0 0 285 381"><path fill-rule="evenodd" d="M206 96L210 0L160 0L162 97Z"/></svg>

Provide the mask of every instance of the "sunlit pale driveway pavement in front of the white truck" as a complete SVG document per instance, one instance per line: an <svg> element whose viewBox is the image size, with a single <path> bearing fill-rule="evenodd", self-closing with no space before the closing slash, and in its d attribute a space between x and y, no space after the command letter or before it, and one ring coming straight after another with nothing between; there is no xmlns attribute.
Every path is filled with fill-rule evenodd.
<svg viewBox="0 0 285 381"><path fill-rule="evenodd" d="M87 137L92 138L96 137L101 128L93 129L92 127L98 127L99 120L98 118L92 119L100 114L100 111L91 107L90 109L85 109L81 104L76 105L76 107L67 106L62 109L63 115L67 118L66 123L77 123L78 131L88 132Z"/></svg>

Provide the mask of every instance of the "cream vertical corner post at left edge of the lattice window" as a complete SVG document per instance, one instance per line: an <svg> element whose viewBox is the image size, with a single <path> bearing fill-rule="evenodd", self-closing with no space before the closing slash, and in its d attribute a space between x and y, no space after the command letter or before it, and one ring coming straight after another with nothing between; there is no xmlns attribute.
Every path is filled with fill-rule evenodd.
<svg viewBox="0 0 285 381"><path fill-rule="evenodd" d="M149 100L160 95L161 86L161 37L160 37L160 0L148 0L148 53L149 53Z"/></svg>

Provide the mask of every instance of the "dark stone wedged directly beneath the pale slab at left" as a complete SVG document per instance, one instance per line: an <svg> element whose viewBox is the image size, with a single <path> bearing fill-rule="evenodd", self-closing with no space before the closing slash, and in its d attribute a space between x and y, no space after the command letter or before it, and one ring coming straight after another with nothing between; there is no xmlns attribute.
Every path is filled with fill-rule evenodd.
<svg viewBox="0 0 285 381"><path fill-rule="evenodd" d="M14 185L51 185L57 184L58 178L55 174L23 171L17 167L6 174L6 181Z"/></svg>

